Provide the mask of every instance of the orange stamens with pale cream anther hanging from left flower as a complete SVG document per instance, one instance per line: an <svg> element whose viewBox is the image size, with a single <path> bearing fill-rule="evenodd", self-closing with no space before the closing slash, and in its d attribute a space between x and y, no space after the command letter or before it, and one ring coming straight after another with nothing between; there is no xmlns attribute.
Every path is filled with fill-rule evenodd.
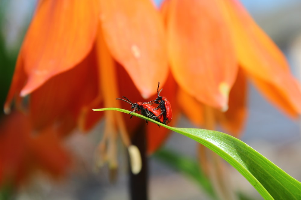
<svg viewBox="0 0 301 200"><path fill-rule="evenodd" d="M104 107L118 108L120 107L119 101L115 100L115 98L119 96L115 61L110 55L109 49L101 35L101 31L99 32L96 45L98 50L97 52L99 52L99 92L102 94L101 96L103 97ZM107 157L111 174L115 174L118 167L116 145L118 132L120 133L122 142L129 149L132 172L134 174L139 173L141 170L140 152L136 146L131 145L121 113L105 112L105 120L104 138L100 143L100 155L105 155ZM105 157L100 158L100 160L106 161L103 160L104 158ZM114 175L112 177L114 177Z"/></svg>

